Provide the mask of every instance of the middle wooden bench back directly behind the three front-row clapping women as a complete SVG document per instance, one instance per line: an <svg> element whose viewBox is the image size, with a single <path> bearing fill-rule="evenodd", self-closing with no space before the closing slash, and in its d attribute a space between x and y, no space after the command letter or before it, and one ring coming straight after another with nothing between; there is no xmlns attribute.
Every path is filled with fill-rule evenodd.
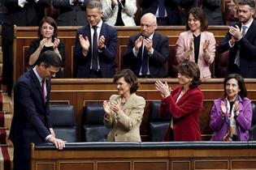
<svg viewBox="0 0 256 170"><path fill-rule="evenodd" d="M177 79L161 79L167 81L171 87L178 86ZM140 87L137 95L143 96L146 100L145 113L141 123L141 138L143 141L149 141L148 120L149 104L154 100L161 100L158 91L155 90L156 79L140 79ZM245 79L248 90L248 97L252 102L256 102L256 80ZM203 91L204 100L200 128L202 139L210 140L211 130L209 127L210 110L213 100L223 96L223 79L208 79L202 82L200 88ZM86 104L102 104L103 100L109 100L112 94L117 93L112 79L53 79L51 104L72 104L75 107L78 122L78 134L81 130L81 111ZM80 137L79 137L80 139Z"/></svg>

